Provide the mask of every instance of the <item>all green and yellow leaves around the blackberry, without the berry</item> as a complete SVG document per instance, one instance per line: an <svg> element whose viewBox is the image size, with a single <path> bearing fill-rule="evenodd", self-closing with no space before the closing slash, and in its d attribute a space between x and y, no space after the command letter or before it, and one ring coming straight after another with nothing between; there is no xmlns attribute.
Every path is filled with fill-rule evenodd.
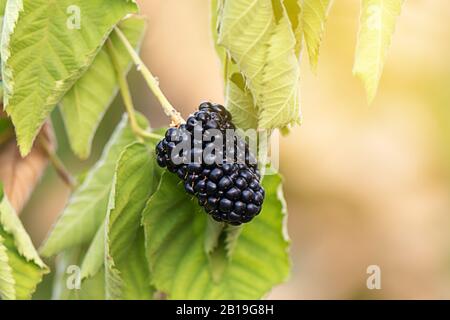
<svg viewBox="0 0 450 320"><path fill-rule="evenodd" d="M260 216L232 228L201 214L178 180L156 166L155 135L165 129L152 130L141 115L134 122L123 83L129 48L139 49L146 25L134 1L8 0L0 2L0 15L5 4L3 102L23 156L57 105L80 159L89 156L119 87L130 113L41 248L45 257L58 255L53 298L152 299L162 292L170 299L258 299L286 279L287 213L278 174L264 177ZM372 99L403 1L362 4L354 72ZM285 132L299 123L299 60L306 48L316 67L331 6L329 0L212 1L226 105L239 127ZM69 7L82 12L80 28L69 27ZM10 124L0 122L0 136ZM81 290L67 288L70 265L81 268ZM1 298L31 298L47 272L1 188Z"/></svg>

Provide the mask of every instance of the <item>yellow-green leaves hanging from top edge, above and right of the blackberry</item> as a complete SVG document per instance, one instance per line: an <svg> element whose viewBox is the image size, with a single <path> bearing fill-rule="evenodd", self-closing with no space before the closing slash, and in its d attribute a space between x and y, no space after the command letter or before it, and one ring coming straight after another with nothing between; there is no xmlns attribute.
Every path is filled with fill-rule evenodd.
<svg viewBox="0 0 450 320"><path fill-rule="evenodd" d="M227 108L242 129L283 129L300 119L298 60L317 67L332 0L213 0ZM354 73L375 97L404 0L362 0ZM303 45L304 44L304 45ZM284 131L284 130L283 130Z"/></svg>

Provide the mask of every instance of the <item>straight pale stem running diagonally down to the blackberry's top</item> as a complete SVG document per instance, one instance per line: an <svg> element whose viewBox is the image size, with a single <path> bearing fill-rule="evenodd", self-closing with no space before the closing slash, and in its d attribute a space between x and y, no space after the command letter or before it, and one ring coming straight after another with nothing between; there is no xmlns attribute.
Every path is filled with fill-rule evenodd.
<svg viewBox="0 0 450 320"><path fill-rule="evenodd" d="M128 54L130 55L131 59L133 60L134 64L137 67L137 70L142 74L145 81L147 82L148 87L161 104L164 113L172 120L172 125L179 126L180 124L185 123L185 120L180 115L180 113L170 104L169 100L167 100L166 96L159 87L158 80L156 80L156 78L144 64L142 59L136 53L133 46L128 41L127 37L123 34L123 32L119 28L116 27L115 31L119 36L120 40L122 41L122 43L124 44L125 48L127 49Z"/></svg>

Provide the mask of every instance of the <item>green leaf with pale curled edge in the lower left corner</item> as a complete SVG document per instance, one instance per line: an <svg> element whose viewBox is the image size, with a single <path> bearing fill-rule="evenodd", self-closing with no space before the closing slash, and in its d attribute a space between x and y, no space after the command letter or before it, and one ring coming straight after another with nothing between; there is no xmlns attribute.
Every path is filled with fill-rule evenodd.
<svg viewBox="0 0 450 320"><path fill-rule="evenodd" d="M0 185L0 297L31 299L48 271Z"/></svg>

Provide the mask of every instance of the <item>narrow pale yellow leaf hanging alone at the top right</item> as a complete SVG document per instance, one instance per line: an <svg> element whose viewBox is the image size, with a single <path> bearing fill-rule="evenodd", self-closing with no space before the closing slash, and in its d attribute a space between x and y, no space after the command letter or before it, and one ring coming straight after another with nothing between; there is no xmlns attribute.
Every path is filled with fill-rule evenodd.
<svg viewBox="0 0 450 320"><path fill-rule="evenodd" d="M364 83L369 102L375 99L403 3L404 0L362 0L353 73Z"/></svg>

